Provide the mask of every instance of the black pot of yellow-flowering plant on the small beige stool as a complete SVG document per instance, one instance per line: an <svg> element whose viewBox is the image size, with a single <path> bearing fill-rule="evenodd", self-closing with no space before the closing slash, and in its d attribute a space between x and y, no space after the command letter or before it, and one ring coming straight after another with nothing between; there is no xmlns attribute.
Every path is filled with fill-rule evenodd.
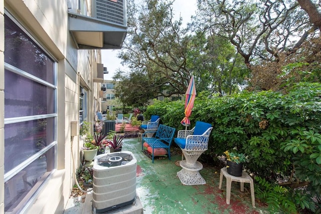
<svg viewBox="0 0 321 214"><path fill-rule="evenodd" d="M247 161L247 156L243 153L229 152L228 150L224 154L227 159L227 172L234 176L242 176L243 163Z"/></svg>

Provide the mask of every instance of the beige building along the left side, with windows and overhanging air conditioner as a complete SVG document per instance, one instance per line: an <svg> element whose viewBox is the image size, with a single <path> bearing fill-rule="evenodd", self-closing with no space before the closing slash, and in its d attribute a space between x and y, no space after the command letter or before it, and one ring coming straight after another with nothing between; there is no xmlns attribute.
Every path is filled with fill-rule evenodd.
<svg viewBox="0 0 321 214"><path fill-rule="evenodd" d="M125 0L0 0L0 213L63 213Z"/></svg>

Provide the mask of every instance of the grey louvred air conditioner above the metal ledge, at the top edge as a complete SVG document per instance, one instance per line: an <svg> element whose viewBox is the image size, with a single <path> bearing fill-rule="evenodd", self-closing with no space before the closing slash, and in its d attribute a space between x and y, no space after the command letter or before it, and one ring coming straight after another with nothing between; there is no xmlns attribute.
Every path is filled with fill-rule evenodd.
<svg viewBox="0 0 321 214"><path fill-rule="evenodd" d="M92 0L92 17L127 26L126 0Z"/></svg>

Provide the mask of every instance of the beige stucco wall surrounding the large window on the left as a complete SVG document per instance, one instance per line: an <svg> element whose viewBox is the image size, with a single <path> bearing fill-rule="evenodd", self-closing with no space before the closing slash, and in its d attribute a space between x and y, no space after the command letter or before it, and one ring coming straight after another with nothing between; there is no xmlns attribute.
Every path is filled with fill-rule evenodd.
<svg viewBox="0 0 321 214"><path fill-rule="evenodd" d="M101 61L100 51L76 48L68 30L68 1L77 5L78 0L0 0L0 213L4 213L4 7L56 58L58 68L57 171L28 213L63 213L74 183L73 169L81 156L79 136L72 137L70 129L71 121L79 119L80 79L90 91L89 120L94 119L95 106L100 103L100 86L92 81L95 60ZM94 100L98 100L96 105Z"/></svg>

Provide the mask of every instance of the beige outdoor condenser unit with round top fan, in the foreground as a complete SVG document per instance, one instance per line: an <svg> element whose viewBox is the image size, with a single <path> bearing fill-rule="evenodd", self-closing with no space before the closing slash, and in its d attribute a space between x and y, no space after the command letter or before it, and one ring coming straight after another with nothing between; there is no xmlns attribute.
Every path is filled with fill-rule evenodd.
<svg viewBox="0 0 321 214"><path fill-rule="evenodd" d="M135 202L136 162L130 151L104 153L95 157L93 211L106 212Z"/></svg>

